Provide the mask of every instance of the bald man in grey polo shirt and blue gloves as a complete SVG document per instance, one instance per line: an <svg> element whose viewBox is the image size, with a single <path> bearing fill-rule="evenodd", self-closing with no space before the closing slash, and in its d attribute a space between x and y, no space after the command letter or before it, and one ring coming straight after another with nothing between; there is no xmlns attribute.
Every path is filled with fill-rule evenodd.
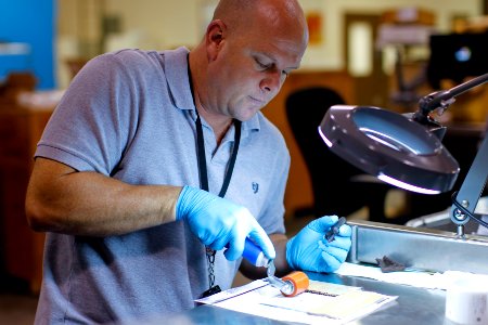
<svg viewBox="0 0 488 325"><path fill-rule="evenodd" d="M246 237L279 274L338 268L350 227L323 240L337 217L284 235L290 155L259 113L307 41L296 0L222 0L190 53L123 50L87 64L46 128L27 191L29 223L48 232L37 324L190 309L239 268L265 276L241 263Z"/></svg>

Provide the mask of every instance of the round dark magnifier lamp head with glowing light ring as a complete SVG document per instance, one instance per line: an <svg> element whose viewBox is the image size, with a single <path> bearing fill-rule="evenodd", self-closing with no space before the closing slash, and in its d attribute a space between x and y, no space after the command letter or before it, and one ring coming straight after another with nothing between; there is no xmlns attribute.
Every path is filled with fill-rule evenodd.
<svg viewBox="0 0 488 325"><path fill-rule="evenodd" d="M438 194L450 191L458 178L458 161L440 140L395 112L335 105L319 132L339 157L398 187Z"/></svg>

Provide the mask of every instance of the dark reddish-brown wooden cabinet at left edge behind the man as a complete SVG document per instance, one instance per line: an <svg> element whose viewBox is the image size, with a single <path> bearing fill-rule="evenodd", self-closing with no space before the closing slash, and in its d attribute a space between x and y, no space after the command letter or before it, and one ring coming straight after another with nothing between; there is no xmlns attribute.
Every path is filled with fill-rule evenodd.
<svg viewBox="0 0 488 325"><path fill-rule="evenodd" d="M34 153L52 108L0 105L0 230L3 265L38 292L42 278L44 235L25 217L25 193Z"/></svg>

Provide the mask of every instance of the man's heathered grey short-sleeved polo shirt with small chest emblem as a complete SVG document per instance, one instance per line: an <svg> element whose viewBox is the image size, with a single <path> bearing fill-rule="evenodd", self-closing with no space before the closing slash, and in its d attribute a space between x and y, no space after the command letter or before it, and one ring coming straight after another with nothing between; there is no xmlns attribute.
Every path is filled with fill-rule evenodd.
<svg viewBox="0 0 488 325"><path fill-rule="evenodd" d="M130 184L200 186L188 50L123 50L89 62L53 113L36 156ZM203 120L210 192L218 194L234 128L217 148ZM258 113L242 140L226 198L247 207L267 233L283 233L290 155ZM216 258L216 284L231 286L240 261ZM208 288L205 248L184 222L120 236L48 233L36 323L107 323L194 307Z"/></svg>

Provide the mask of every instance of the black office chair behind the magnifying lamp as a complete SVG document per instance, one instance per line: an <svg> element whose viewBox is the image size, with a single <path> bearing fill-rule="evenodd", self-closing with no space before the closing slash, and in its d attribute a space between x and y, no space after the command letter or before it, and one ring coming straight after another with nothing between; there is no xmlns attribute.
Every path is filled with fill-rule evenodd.
<svg viewBox="0 0 488 325"><path fill-rule="evenodd" d="M286 117L310 173L316 217L347 217L367 206L369 220L386 222L386 193L393 187L381 181L357 181L364 172L332 153L318 127L332 105L345 104L332 89L299 89L285 102Z"/></svg>

